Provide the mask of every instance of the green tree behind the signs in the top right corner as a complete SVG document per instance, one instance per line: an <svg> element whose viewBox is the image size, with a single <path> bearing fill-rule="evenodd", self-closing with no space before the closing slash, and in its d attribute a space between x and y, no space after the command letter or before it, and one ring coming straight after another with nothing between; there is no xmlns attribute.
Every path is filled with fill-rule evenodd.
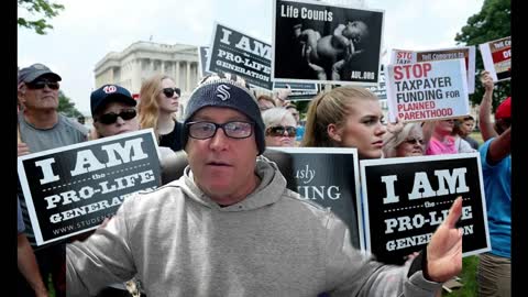
<svg viewBox="0 0 528 297"><path fill-rule="evenodd" d="M468 24L454 37L459 45L475 45L476 47L475 92L470 97L474 105L479 105L484 95L484 88L480 79L480 73L484 69L484 64L482 58L479 58L482 57L479 44L510 36L510 0L484 0L481 12L470 16ZM512 85L509 80L496 82L493 92L493 109L495 110L501 100L510 95Z"/></svg>

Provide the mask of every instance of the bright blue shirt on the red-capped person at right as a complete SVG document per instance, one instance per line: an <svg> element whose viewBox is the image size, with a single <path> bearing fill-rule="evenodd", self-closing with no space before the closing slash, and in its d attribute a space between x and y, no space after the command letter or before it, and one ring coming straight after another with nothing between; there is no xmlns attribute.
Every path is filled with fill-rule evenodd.
<svg viewBox="0 0 528 297"><path fill-rule="evenodd" d="M488 164L487 151L493 140L486 141L479 150L486 196L491 253L509 258L512 257L512 155L495 165Z"/></svg>

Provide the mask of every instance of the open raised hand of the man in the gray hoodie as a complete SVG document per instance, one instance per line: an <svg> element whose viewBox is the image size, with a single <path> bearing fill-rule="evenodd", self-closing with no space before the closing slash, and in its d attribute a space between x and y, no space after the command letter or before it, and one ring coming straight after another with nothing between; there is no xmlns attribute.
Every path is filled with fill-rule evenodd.
<svg viewBox="0 0 528 297"><path fill-rule="evenodd" d="M427 245L427 274L430 280L444 283L462 271L462 229L455 227L462 216L462 197L454 200L448 218Z"/></svg>

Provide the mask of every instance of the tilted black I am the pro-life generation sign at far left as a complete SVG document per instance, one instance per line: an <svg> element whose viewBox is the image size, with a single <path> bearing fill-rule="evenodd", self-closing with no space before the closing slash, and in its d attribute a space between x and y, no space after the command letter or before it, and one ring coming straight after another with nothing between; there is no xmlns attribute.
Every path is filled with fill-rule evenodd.
<svg viewBox="0 0 528 297"><path fill-rule="evenodd" d="M37 245L92 230L161 185L152 129L20 156L18 170Z"/></svg>

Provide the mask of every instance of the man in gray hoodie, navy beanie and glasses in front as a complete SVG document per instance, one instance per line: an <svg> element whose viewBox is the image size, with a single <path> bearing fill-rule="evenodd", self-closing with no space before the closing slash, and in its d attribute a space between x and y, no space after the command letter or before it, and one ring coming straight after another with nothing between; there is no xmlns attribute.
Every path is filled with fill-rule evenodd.
<svg viewBox="0 0 528 297"><path fill-rule="evenodd" d="M351 245L330 210L286 188L258 157L264 124L234 75L206 77L191 94L184 176L128 198L107 227L67 246L68 296L95 295L138 275L147 296L435 296L462 270L462 200L405 266Z"/></svg>

